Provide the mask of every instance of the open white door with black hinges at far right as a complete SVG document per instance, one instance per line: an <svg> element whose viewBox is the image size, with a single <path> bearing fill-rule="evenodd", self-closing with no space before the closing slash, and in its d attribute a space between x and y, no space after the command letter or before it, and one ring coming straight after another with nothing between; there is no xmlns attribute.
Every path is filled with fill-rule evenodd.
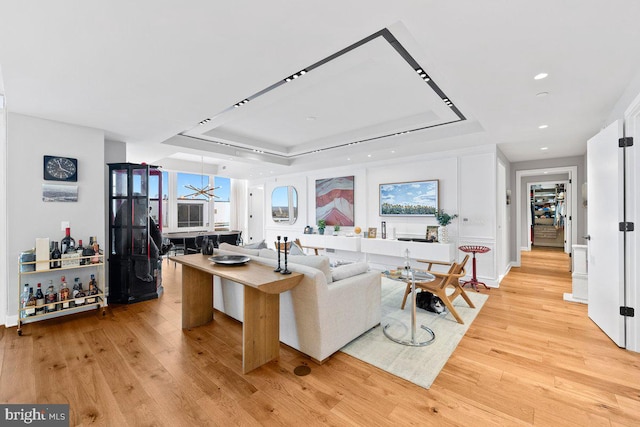
<svg viewBox="0 0 640 427"><path fill-rule="evenodd" d="M618 148L619 123L600 131L587 143L588 313L618 346L625 346L624 233L622 221L624 165Z"/></svg>

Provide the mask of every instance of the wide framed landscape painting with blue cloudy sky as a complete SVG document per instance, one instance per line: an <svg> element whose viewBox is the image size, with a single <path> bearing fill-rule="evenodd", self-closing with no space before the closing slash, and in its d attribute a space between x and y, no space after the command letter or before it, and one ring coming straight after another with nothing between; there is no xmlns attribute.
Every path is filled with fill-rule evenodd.
<svg viewBox="0 0 640 427"><path fill-rule="evenodd" d="M380 216L435 216L438 180L380 184Z"/></svg>

